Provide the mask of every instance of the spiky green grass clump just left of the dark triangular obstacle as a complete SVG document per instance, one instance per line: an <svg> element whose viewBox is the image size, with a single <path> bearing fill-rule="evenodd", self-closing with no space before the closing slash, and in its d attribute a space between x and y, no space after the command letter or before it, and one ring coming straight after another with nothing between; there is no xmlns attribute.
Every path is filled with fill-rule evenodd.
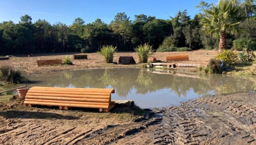
<svg viewBox="0 0 256 145"><path fill-rule="evenodd" d="M100 51L98 52L100 55L102 55L105 59L106 63L112 63L114 58L114 53L116 52L117 47L112 45L105 45L102 46Z"/></svg>

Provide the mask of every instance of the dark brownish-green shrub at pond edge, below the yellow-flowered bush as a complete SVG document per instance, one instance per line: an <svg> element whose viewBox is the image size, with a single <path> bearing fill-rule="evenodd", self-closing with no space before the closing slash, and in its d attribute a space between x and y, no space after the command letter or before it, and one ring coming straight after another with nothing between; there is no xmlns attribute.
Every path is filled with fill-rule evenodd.
<svg viewBox="0 0 256 145"><path fill-rule="evenodd" d="M210 59L207 67L205 68L205 73L218 73L221 74L223 72L224 66L221 68L221 60L219 59Z"/></svg>

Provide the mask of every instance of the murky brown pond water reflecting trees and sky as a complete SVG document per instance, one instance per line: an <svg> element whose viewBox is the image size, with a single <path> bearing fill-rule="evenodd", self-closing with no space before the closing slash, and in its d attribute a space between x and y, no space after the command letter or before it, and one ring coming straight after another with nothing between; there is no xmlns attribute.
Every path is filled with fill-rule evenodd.
<svg viewBox="0 0 256 145"><path fill-rule="evenodd" d="M32 75L29 87L114 88L112 99L134 100L143 108L167 107L204 95L221 95L253 90L245 78L195 75L172 71L113 68Z"/></svg>

